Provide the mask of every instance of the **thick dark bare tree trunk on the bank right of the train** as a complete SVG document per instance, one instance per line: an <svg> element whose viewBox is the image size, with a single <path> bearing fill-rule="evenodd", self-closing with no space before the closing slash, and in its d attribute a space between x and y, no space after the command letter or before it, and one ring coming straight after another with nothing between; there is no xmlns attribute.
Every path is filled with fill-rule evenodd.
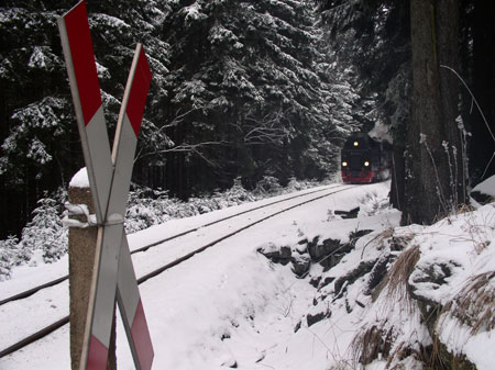
<svg viewBox="0 0 495 370"><path fill-rule="evenodd" d="M403 223L429 224L458 198L458 0L411 0L413 102ZM448 152L450 150L450 154ZM458 157L459 158L459 157ZM458 168L459 171L459 168ZM452 175L451 175L452 173Z"/></svg>

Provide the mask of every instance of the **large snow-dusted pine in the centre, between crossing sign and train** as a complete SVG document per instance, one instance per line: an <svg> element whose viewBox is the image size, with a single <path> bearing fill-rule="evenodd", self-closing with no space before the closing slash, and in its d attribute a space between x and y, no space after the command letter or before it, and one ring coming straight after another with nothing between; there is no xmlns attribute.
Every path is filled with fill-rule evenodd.
<svg viewBox="0 0 495 370"><path fill-rule="evenodd" d="M239 176L323 177L354 99L334 88L311 1L177 1L166 120L177 150L167 188L228 187ZM179 153L179 150L183 150Z"/></svg>

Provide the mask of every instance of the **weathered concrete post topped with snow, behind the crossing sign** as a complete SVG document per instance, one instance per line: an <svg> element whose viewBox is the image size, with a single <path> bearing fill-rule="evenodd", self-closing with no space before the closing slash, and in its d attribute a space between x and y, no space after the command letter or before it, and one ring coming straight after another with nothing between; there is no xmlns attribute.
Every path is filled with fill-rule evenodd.
<svg viewBox="0 0 495 370"><path fill-rule="evenodd" d="M89 188L70 187L68 190L70 204L86 204L89 213L95 210ZM87 223L86 216L72 216ZM80 355L88 312L89 289L95 265L97 226L69 228L69 293L70 293L70 363L73 370L79 370ZM116 316L113 315L112 334L108 356L107 370L117 370L116 359Z"/></svg>

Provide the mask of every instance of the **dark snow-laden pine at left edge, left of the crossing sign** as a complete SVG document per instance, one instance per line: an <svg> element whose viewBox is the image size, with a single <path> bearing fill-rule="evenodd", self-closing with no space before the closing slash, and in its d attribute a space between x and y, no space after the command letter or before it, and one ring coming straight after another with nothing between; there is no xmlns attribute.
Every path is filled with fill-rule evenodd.
<svg viewBox="0 0 495 370"><path fill-rule="evenodd" d="M19 233L78 156L56 13L40 1L13 2L0 8L1 237Z"/></svg>

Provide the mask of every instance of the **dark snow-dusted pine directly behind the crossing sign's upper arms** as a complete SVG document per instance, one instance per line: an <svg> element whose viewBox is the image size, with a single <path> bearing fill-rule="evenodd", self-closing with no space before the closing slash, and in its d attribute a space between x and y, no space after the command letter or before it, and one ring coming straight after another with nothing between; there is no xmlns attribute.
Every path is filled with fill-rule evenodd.
<svg viewBox="0 0 495 370"><path fill-rule="evenodd" d="M156 181L156 172L163 172L163 153L173 145L164 130L161 130L169 48L162 41L162 27L169 12L168 2L88 1L89 24L110 137L113 137L112 128L118 120L135 45L142 43L146 52L153 79L138 142L133 180L148 187L162 186L161 181Z"/></svg>

